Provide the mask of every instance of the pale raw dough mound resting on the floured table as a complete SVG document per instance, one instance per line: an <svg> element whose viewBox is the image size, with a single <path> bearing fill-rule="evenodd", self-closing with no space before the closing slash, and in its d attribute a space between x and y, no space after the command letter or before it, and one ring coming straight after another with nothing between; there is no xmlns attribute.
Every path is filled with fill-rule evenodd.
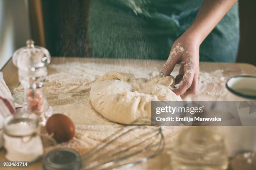
<svg viewBox="0 0 256 170"><path fill-rule="evenodd" d="M150 80L135 78L133 74L108 72L91 85L92 106L103 117L122 124L148 124L151 119L151 101L182 100L170 89L172 76Z"/></svg>

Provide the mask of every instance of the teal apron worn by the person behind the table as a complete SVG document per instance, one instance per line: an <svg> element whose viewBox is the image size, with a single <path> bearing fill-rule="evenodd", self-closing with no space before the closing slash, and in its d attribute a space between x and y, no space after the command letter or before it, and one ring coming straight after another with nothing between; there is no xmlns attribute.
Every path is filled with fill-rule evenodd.
<svg viewBox="0 0 256 170"><path fill-rule="evenodd" d="M202 0L91 0L91 56L166 60L201 4ZM200 60L234 62L238 41L236 4L200 46Z"/></svg>

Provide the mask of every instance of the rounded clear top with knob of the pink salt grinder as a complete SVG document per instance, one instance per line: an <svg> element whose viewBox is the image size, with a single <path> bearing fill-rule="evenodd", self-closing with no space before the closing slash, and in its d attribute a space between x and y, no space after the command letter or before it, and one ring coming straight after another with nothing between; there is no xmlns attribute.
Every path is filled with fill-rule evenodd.
<svg viewBox="0 0 256 170"><path fill-rule="evenodd" d="M51 55L46 48L35 46L33 40L27 40L26 44L26 47L16 50L13 54L13 64L19 70L35 71L50 63Z"/></svg>

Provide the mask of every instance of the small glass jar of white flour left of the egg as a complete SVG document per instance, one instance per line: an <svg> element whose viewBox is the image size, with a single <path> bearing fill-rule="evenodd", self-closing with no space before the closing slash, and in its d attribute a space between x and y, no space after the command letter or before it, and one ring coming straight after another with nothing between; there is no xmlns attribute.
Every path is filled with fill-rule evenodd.
<svg viewBox="0 0 256 170"><path fill-rule="evenodd" d="M33 162L41 158L44 148L38 124L38 116L35 114L6 117L3 137L7 160Z"/></svg>

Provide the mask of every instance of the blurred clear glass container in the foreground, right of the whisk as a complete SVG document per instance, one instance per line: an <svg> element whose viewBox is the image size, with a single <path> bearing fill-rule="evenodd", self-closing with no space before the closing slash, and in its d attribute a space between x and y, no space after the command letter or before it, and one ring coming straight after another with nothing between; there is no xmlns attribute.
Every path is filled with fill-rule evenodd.
<svg viewBox="0 0 256 170"><path fill-rule="evenodd" d="M215 127L190 127L179 135L172 155L173 170L226 170L228 154Z"/></svg>

